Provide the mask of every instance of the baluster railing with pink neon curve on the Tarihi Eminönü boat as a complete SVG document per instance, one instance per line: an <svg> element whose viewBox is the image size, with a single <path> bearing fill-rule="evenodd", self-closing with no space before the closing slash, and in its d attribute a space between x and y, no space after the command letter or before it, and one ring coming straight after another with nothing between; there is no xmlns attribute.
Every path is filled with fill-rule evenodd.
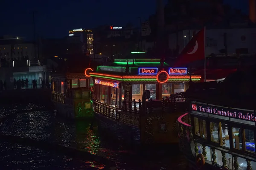
<svg viewBox="0 0 256 170"><path fill-rule="evenodd" d="M189 159L196 168L195 157L202 154L205 160L203 166L213 166L215 169L228 170L253 170L256 169L256 159L231 152L228 148L216 147L200 139L194 139L192 133L191 119L188 113L178 118L180 138L180 151Z"/></svg>

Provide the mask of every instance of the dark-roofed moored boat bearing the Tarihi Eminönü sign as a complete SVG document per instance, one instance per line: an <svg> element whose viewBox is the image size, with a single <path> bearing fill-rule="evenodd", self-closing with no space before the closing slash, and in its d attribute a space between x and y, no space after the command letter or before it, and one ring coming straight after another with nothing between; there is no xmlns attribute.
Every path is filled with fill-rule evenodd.
<svg viewBox="0 0 256 170"><path fill-rule="evenodd" d="M190 109L178 119L179 145L190 169L256 169L254 77L236 71L215 87L195 83L186 91Z"/></svg>

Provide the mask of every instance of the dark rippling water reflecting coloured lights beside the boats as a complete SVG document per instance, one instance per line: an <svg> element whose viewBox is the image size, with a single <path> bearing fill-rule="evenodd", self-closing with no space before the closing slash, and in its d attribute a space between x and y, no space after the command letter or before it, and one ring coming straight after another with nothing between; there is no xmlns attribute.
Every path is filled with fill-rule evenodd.
<svg viewBox="0 0 256 170"><path fill-rule="evenodd" d="M156 159L142 156L111 139L102 139L89 121L67 122L56 118L41 105L12 105L0 108L0 133L74 147L113 160L119 170L182 170L184 159L170 153ZM82 170L103 169L99 162L75 159L54 151L18 143L0 142L0 170Z"/></svg>

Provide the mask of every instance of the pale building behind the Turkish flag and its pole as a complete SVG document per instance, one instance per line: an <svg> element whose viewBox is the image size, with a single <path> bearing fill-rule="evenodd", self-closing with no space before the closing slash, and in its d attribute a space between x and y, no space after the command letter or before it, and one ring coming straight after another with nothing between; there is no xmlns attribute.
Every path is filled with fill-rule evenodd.
<svg viewBox="0 0 256 170"><path fill-rule="evenodd" d="M170 34L169 48L178 47L180 53L198 31L186 30L179 31L177 34ZM256 53L256 28L207 29L205 32L206 56L225 55L225 41L229 56Z"/></svg>

